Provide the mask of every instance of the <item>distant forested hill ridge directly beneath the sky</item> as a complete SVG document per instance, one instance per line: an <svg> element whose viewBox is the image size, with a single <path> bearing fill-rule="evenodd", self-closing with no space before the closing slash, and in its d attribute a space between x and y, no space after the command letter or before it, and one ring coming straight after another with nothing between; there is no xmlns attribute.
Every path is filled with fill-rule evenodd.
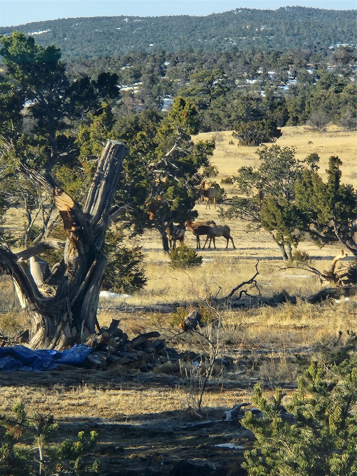
<svg viewBox="0 0 357 476"><path fill-rule="evenodd" d="M0 34L14 30L33 35L44 47L54 43L65 60L159 49L327 50L331 45L355 43L356 10L281 7L242 8L205 17L83 17L1 27Z"/></svg>

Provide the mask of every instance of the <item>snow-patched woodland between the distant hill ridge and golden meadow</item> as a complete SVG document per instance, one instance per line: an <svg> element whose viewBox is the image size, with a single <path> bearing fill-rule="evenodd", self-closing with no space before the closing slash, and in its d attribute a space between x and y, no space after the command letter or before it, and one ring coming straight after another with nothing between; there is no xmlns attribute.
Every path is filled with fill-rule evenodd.
<svg viewBox="0 0 357 476"><path fill-rule="evenodd" d="M181 96L198 105L206 131L237 130L241 123L264 120L277 127L310 121L321 130L329 121L355 127L355 62L356 49L347 46L336 48L328 57L301 49L283 53L158 51L71 61L67 71L71 78L115 73L119 98L113 111L119 116L149 108L160 111L165 98ZM256 134L257 127L251 134ZM267 127L271 125L265 122Z"/></svg>

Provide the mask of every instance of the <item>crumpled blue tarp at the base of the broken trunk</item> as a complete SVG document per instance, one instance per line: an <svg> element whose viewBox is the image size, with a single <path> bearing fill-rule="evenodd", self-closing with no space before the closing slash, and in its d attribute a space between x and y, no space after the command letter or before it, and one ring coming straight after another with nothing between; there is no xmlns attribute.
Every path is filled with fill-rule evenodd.
<svg viewBox="0 0 357 476"><path fill-rule="evenodd" d="M26 370L40 372L52 370L61 364L76 365L83 362L93 349L76 344L68 350L31 350L25 346L0 347L0 371Z"/></svg>

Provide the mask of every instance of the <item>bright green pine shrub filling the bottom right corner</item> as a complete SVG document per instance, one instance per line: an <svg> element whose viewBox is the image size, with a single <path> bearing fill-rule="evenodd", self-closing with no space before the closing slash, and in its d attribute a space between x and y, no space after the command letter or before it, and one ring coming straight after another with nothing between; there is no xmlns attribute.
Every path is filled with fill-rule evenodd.
<svg viewBox="0 0 357 476"><path fill-rule="evenodd" d="M312 361L298 378L291 403L282 407L278 388L269 399L260 384L254 386L253 402L262 412L247 412L241 420L256 441L246 451L242 466L249 476L352 476L356 474L357 370L353 367L342 382L325 379L327 370Z"/></svg>

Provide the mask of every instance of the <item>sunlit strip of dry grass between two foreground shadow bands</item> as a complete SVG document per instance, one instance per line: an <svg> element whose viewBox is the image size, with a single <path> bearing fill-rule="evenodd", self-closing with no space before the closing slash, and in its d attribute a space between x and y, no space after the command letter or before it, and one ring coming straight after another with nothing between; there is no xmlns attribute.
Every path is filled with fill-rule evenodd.
<svg viewBox="0 0 357 476"><path fill-rule="evenodd" d="M45 415L52 413L56 420L76 419L120 419L134 415L155 414L182 410L188 407L187 390L181 388L149 388L147 390L100 390L91 386L76 389L3 387L1 390L0 412L8 413L12 407L22 401L27 411L30 409ZM224 396L207 392L205 406L231 408L237 403L241 392L227 391Z"/></svg>

